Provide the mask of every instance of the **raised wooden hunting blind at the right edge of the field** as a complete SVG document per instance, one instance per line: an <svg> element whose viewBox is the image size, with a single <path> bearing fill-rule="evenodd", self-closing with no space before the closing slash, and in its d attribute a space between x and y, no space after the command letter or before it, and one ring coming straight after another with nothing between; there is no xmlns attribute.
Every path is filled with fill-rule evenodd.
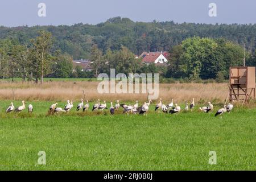
<svg viewBox="0 0 256 182"><path fill-rule="evenodd" d="M255 100L255 67L229 68L229 100Z"/></svg>

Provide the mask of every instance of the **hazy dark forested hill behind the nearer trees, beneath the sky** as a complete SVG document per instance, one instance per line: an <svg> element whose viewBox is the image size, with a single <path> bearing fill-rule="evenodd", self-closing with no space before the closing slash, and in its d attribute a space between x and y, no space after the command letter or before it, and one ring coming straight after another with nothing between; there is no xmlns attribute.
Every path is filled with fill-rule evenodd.
<svg viewBox="0 0 256 182"><path fill-rule="evenodd" d="M0 39L14 38L20 44L29 44L39 30L51 32L53 49L68 53L73 59L89 59L93 44L97 44L104 53L108 49L114 51L125 46L140 55L143 51L168 51L192 36L226 38L233 43L246 44L247 51L251 53L256 47L256 24L144 23L121 17L96 25L0 27Z"/></svg>

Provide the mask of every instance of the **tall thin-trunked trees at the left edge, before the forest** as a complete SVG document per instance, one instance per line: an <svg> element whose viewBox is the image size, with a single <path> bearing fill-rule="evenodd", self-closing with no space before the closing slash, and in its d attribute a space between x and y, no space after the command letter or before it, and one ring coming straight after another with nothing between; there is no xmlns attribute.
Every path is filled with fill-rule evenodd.
<svg viewBox="0 0 256 182"><path fill-rule="evenodd" d="M56 57L51 54L52 35L50 32L39 31L39 36L31 39L29 44L22 45L16 39L0 41L0 77L40 80L52 72L51 66Z"/></svg>

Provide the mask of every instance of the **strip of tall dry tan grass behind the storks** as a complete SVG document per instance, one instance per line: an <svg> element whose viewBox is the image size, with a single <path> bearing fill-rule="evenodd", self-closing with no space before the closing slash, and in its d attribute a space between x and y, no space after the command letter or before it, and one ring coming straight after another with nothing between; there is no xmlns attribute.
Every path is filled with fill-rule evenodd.
<svg viewBox="0 0 256 182"><path fill-rule="evenodd" d="M106 100L106 101L145 101L147 94L100 94L97 92L98 82L45 82L43 85L31 82L6 82L0 83L0 100L26 100L26 101L64 101L80 100ZM197 102L219 101L223 102L228 96L228 84L222 83L175 83L159 84L159 98L165 103L174 98L175 102L191 101L195 98ZM14 95L13 95L14 92Z"/></svg>

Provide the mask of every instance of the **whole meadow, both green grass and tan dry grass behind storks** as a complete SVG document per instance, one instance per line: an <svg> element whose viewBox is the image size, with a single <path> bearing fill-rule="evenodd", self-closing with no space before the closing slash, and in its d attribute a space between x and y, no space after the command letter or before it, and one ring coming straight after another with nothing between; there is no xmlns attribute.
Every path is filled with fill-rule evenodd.
<svg viewBox="0 0 256 182"><path fill-rule="evenodd" d="M184 109L195 97L193 111L147 115L110 115L109 110L92 112L97 98L141 105L146 94L105 94L95 92L97 82L51 81L43 85L6 82L0 87L0 170L255 170L256 107L235 105L232 113L214 117L227 95L226 84L160 84L164 104L171 98ZM14 90L14 92L13 92ZM90 110L75 107L85 91ZM13 94L14 93L14 94ZM13 96L15 97L13 100ZM5 113L26 101L34 112ZM73 100L69 113L48 115L49 106L64 107ZM214 104L213 113L200 106ZM46 165L38 164L38 152L46 152ZM216 151L217 164L210 165L209 151Z"/></svg>

